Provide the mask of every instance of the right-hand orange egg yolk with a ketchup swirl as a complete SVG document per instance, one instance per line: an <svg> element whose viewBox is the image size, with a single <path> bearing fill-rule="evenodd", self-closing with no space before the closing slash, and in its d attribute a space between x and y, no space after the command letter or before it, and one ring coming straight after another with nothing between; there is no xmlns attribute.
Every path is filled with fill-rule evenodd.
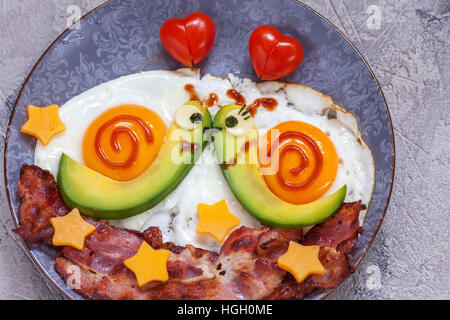
<svg viewBox="0 0 450 320"><path fill-rule="evenodd" d="M319 199L331 187L338 156L322 130L305 122L287 121L269 130L264 139L267 161L261 161L261 167L275 168L264 179L276 196L304 204Z"/></svg>

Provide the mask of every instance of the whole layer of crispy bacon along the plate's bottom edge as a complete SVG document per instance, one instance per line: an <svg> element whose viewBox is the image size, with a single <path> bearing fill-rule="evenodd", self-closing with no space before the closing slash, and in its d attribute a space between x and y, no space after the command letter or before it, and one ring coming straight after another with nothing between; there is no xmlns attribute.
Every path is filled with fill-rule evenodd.
<svg viewBox="0 0 450 320"><path fill-rule="evenodd" d="M52 175L24 165L19 180L21 226L16 232L32 242L51 245L50 218L69 212ZM301 229L241 227L232 232L220 253L187 245L164 243L160 230L145 232L112 227L105 221L84 217L96 226L81 251L61 250L55 269L70 287L89 299L299 299L316 288L334 288L351 272L349 251L359 231L361 203L345 204L333 217L314 227L305 237ZM323 275L302 283L277 266L289 241L320 245ZM142 241L170 251L169 280L139 287L124 265Z"/></svg>

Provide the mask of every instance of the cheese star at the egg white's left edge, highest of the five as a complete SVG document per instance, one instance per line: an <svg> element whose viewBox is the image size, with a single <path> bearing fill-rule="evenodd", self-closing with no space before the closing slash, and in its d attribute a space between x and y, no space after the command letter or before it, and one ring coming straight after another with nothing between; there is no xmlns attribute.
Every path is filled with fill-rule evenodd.
<svg viewBox="0 0 450 320"><path fill-rule="evenodd" d="M22 132L38 138L42 144L47 145L55 134L66 130L58 112L56 104L44 108L29 105L28 121L22 127Z"/></svg>

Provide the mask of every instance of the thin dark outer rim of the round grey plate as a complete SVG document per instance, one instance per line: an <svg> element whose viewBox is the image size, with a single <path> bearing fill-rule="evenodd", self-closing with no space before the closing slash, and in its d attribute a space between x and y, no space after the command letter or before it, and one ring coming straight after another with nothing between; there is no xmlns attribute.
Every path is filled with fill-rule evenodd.
<svg viewBox="0 0 450 320"><path fill-rule="evenodd" d="M310 7L309 5L303 3L301 0L289 0L289 1L293 1L298 5L301 5L303 7L305 7L306 9L310 10L311 12L313 12L314 14L316 14L319 18L321 18L323 21L325 21L326 23L328 23L336 32L339 33L339 35L341 37L344 38L344 40L352 47L352 49L357 53L357 55L359 56L359 58L361 59L361 61L364 63L364 65L366 66L366 69L369 71L370 76L372 77L372 79L375 82L375 85L377 87L377 90L381 96L381 100L383 102L384 108L386 110L386 115L387 115L387 122L389 124L389 135L390 135L390 139L391 139L391 145L392 145L392 160L391 160L391 170L390 170L390 174L391 174L391 178L389 181L389 186L388 186L388 194L386 197L386 201L381 213L381 218L379 219L379 221L377 222L377 225L375 226L373 233L371 235L371 237L369 238L369 240L367 241L367 243L364 245L364 247L362 248L361 254L354 258L354 265L357 266L359 264L359 262L362 260L362 258L366 255L368 249L370 248L370 246L372 245L372 242L374 241L376 235L378 234L378 231L381 227L381 224L384 221L384 218L386 216L386 212L387 209L389 207L389 202L392 196L392 189L393 189L393 185L394 185L394 180L395 180L395 160L396 160L396 153L395 153L395 137L394 137L394 128L392 125L392 117L391 117L391 113L386 101L386 98L384 96L383 90L381 88L380 83L378 82L378 79L375 76L375 73L373 72L372 68L370 67L369 63L367 62L367 60L364 58L364 56L362 55L362 53L359 51L359 49L353 44L353 42L343 33L343 31L341 31L336 25L334 25L331 21L329 21L326 17L324 17L321 13L319 13L318 11L316 11L315 9L313 9L312 7ZM16 111L17 111L17 106L19 103L19 100L22 97L23 91L25 89L25 86L28 84L29 80L31 79L31 77L33 76L34 72L36 71L37 67L40 65L40 63L42 62L42 60L47 56L47 54L49 53L49 51L68 33L70 32L73 26L77 25L78 23L80 23L82 20L84 20L85 18L87 18L88 16L90 16L91 14L95 13L96 11L98 11L99 9L101 9L104 6L109 5L110 3L114 2L114 0L107 0L106 2L100 4L99 6L93 8L92 10L88 11L86 14L84 14L82 17L80 17L78 20L76 20L72 26L66 28L49 46L48 48L42 53L42 55L39 57L39 59L36 61L36 63L34 64L34 66L32 67L31 71L29 72L28 76L25 78L25 81L23 82L21 89L19 91L19 93L17 94L17 98L14 102L14 106L13 109L11 111L11 116L9 118L8 121L8 127L7 127L7 132L6 132L6 138L5 138L5 147L4 147L4 153L3 153L3 174L4 174L4 180L5 180L5 190L6 190L6 197L8 200L8 206L9 206L9 211L10 214L12 216L12 220L14 222L14 225L16 228L19 228L19 221L18 221L18 217L15 213L15 210L13 208L12 205L12 199L11 199L11 190L9 188L9 180L8 180L8 176L7 176L7 155L8 155L8 149L9 149L9 139L11 136L11 125L12 125L12 119L14 118ZM31 248L29 246L29 244L22 238L20 237L20 241L22 241L22 244L25 247L25 253L28 256L28 258L31 260L31 262L34 264L35 267L38 268L39 271L41 271L41 273L44 275L44 277L46 278L46 281L49 281L58 291L60 294L62 294L66 299L69 300L75 300L76 298L73 297L69 292L66 291L65 288L62 288L54 279L53 277L43 268L43 266L39 263L39 261L36 259L36 257L34 256L34 254L31 251ZM345 281L345 280L344 280ZM342 283L340 284L342 285ZM339 285L339 286L340 286ZM338 286L338 287L339 287ZM335 288L336 289L336 288ZM318 300L322 300L325 299L329 294L331 294L331 292L333 292L335 289L328 289L325 290L323 293L319 294L317 296ZM83 298L84 299L84 298Z"/></svg>

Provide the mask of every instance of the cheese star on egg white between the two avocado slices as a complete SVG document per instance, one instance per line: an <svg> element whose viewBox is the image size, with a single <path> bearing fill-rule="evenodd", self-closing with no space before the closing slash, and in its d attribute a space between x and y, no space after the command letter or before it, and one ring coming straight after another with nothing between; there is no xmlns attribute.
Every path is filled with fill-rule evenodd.
<svg viewBox="0 0 450 320"><path fill-rule="evenodd" d="M209 234L222 243L231 229L238 226L241 221L228 211L225 200L213 205L200 203L197 206L198 226L196 232Z"/></svg>

